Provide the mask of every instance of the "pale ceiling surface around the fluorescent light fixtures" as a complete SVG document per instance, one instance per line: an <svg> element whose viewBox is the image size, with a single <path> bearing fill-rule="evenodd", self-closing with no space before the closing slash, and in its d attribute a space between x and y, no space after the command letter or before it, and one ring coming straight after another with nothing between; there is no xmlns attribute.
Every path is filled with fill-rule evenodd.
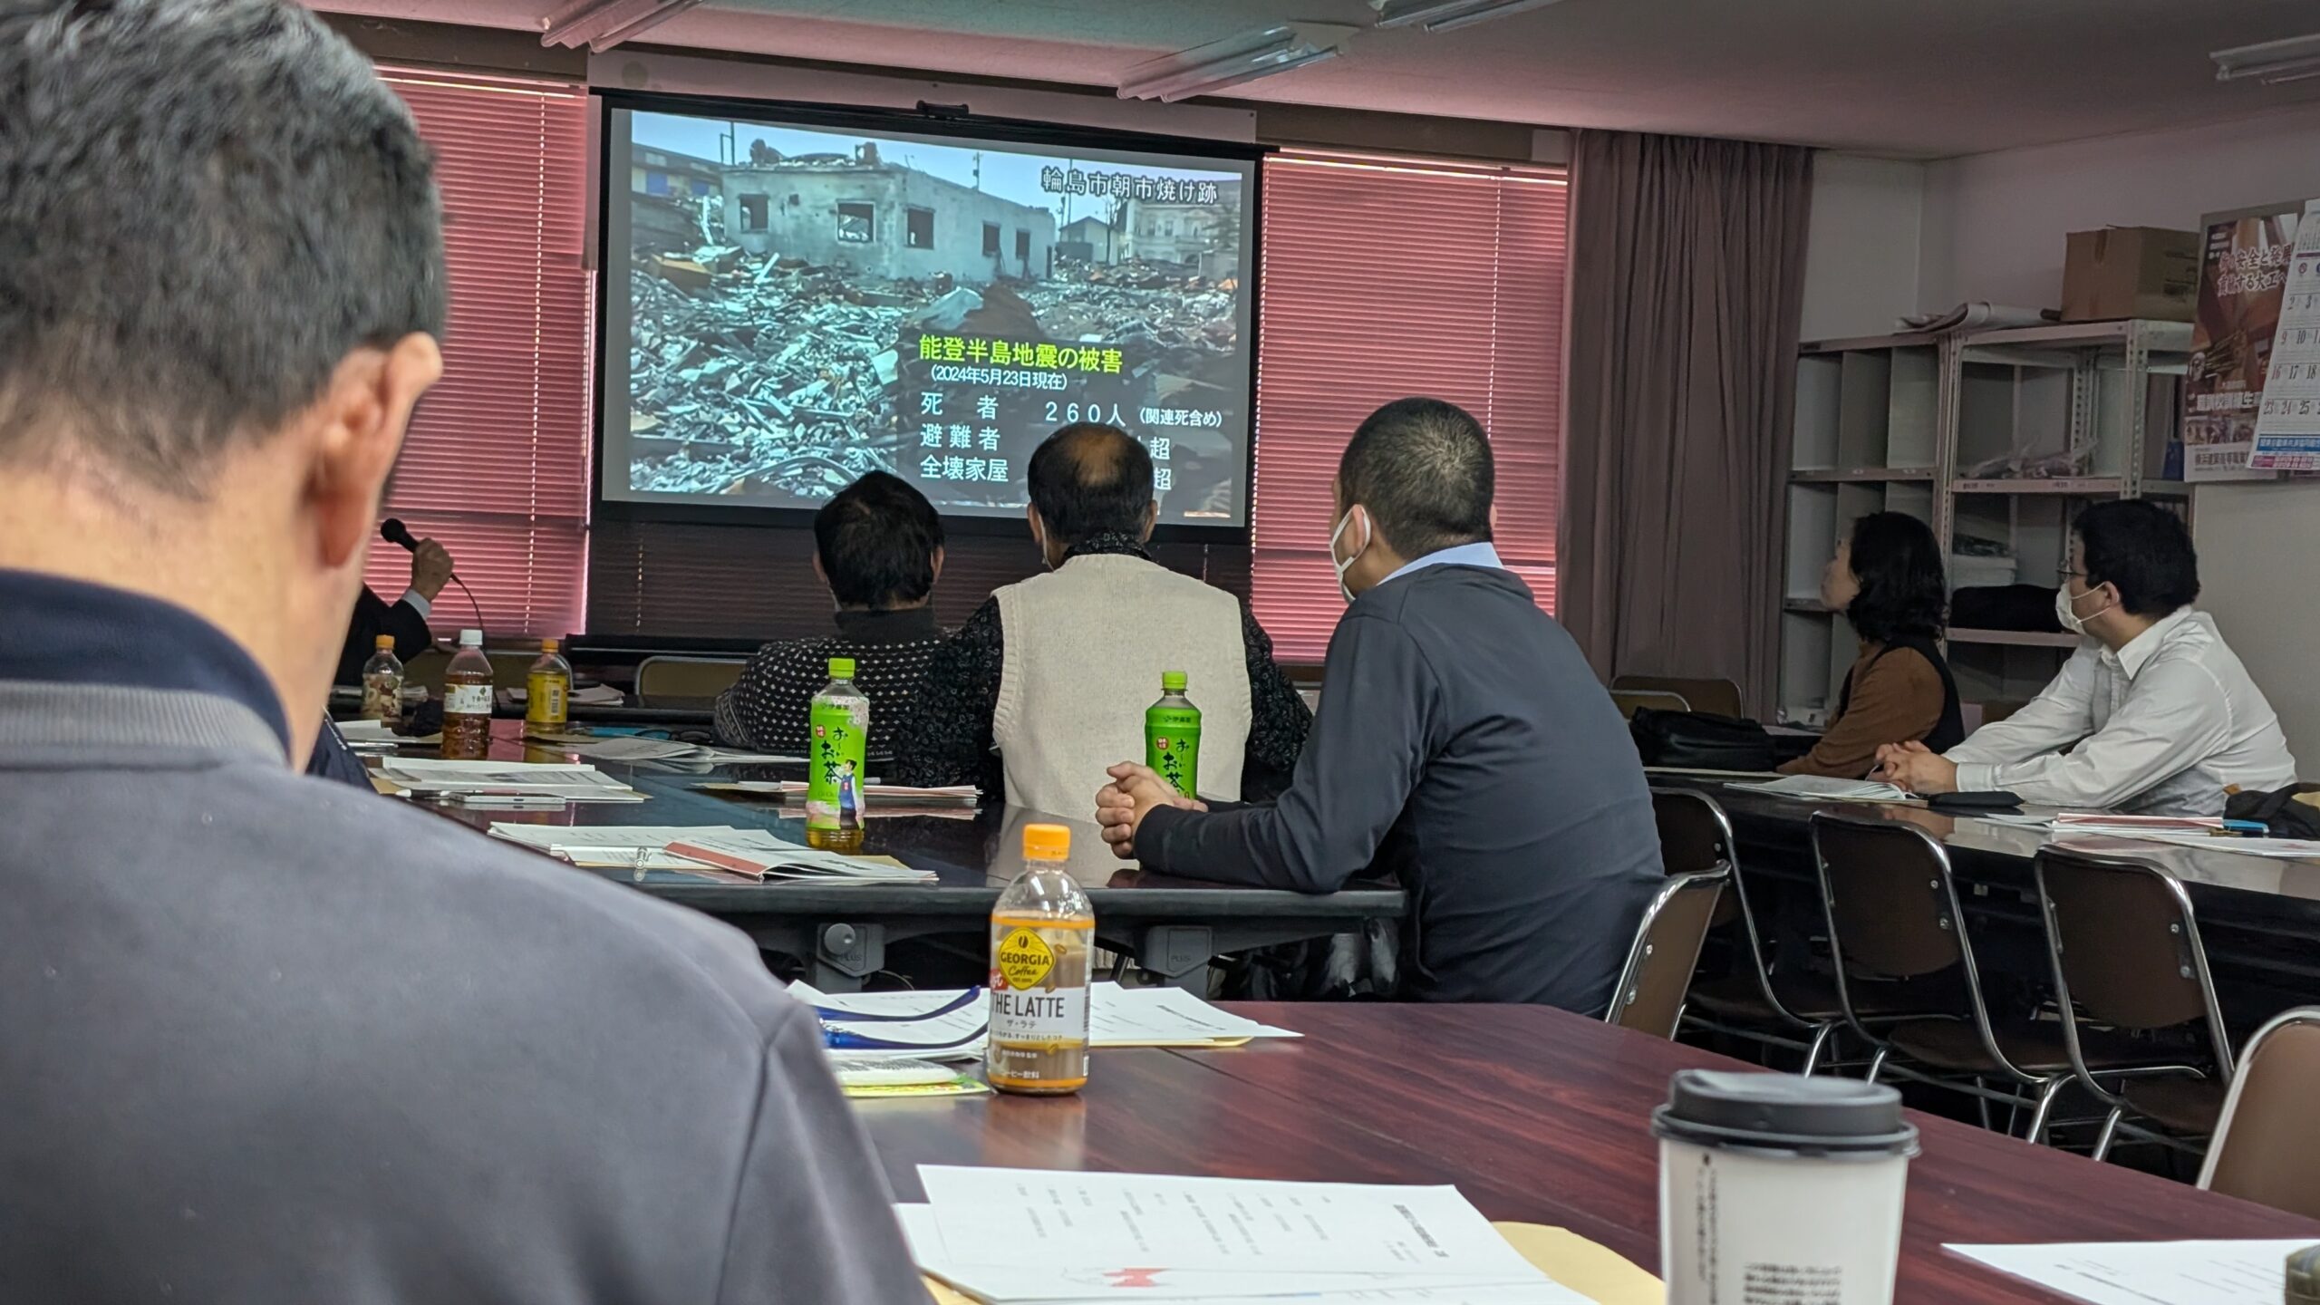
<svg viewBox="0 0 2320 1305"><path fill-rule="evenodd" d="M538 28L561 0L311 0ZM1116 86L1146 58L1366 0L710 0L652 44ZM1362 33L1244 100L1942 158L2320 100L2218 84L2211 49L2320 30L2313 0L1561 0L1457 33ZM2320 144L2320 142L2315 142Z"/></svg>

